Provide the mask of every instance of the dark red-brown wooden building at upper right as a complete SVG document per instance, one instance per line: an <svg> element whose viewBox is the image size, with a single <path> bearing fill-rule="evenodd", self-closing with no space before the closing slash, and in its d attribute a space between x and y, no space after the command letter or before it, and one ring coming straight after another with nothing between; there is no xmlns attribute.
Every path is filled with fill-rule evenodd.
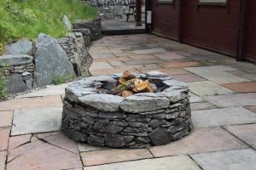
<svg viewBox="0 0 256 170"><path fill-rule="evenodd" d="M151 30L179 42L256 61L256 0L148 0Z"/></svg>

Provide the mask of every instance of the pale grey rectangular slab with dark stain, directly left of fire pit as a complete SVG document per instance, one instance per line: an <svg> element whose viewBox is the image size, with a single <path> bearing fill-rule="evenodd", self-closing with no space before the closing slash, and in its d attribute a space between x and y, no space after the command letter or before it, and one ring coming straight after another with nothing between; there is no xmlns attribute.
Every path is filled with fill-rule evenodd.
<svg viewBox="0 0 256 170"><path fill-rule="evenodd" d="M11 135L61 130L61 107L15 110Z"/></svg>

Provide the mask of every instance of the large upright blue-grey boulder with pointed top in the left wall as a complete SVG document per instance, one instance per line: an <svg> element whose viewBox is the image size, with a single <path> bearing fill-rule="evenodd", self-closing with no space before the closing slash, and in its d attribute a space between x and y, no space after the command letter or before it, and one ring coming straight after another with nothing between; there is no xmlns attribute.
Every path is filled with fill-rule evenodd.
<svg viewBox="0 0 256 170"><path fill-rule="evenodd" d="M34 80L38 86L52 84L56 77L74 77L73 65L53 37L40 33L35 45Z"/></svg>

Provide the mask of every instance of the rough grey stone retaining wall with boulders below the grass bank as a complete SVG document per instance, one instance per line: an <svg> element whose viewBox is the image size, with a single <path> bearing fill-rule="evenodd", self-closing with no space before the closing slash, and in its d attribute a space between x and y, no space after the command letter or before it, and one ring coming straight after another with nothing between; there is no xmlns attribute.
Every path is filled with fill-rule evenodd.
<svg viewBox="0 0 256 170"><path fill-rule="evenodd" d="M67 37L55 39L44 33L32 42L28 39L9 44L0 56L0 69L4 70L9 94L52 84L55 78L89 77L92 58L91 41L102 36L101 22L84 21L73 28L64 15L63 22L71 32Z"/></svg>

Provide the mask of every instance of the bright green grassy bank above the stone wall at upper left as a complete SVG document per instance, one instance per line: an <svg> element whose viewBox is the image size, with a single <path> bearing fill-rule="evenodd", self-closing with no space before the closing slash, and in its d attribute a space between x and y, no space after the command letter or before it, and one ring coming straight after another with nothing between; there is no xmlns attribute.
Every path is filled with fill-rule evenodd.
<svg viewBox="0 0 256 170"><path fill-rule="evenodd" d="M0 0L0 54L4 42L20 37L34 39L39 32L52 37L62 37L67 29L63 14L71 22L96 17L96 8L80 0Z"/></svg>

